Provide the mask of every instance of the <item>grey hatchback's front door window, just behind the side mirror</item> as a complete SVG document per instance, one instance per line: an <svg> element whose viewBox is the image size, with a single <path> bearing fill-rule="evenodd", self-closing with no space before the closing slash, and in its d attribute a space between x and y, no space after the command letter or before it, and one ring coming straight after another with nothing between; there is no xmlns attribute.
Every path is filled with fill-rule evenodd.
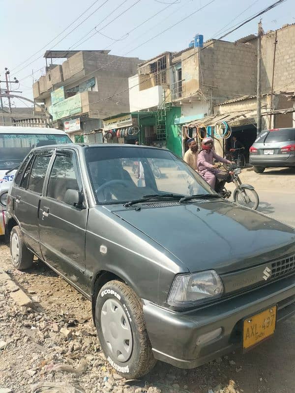
<svg viewBox="0 0 295 393"><path fill-rule="evenodd" d="M47 186L47 197L64 202L67 190L82 190L75 154L56 156Z"/></svg>

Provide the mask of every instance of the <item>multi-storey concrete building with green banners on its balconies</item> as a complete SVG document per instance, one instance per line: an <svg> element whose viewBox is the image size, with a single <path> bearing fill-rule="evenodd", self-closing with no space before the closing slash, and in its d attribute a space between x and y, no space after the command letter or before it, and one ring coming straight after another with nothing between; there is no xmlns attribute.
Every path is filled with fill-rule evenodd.
<svg viewBox="0 0 295 393"><path fill-rule="evenodd" d="M46 51L45 75L33 84L37 103L53 115L53 126L75 135L103 127L102 119L129 111L128 77L137 71L136 57L109 51ZM65 58L62 64L53 60ZM50 64L48 64L50 62Z"/></svg>

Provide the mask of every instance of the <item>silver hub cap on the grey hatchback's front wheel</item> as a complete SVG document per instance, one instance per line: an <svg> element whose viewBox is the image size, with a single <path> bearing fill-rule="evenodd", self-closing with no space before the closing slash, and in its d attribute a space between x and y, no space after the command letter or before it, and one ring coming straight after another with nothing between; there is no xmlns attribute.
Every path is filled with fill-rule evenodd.
<svg viewBox="0 0 295 393"><path fill-rule="evenodd" d="M107 299L101 310L103 337L114 360L127 362L132 353L133 338L128 317L115 299Z"/></svg>

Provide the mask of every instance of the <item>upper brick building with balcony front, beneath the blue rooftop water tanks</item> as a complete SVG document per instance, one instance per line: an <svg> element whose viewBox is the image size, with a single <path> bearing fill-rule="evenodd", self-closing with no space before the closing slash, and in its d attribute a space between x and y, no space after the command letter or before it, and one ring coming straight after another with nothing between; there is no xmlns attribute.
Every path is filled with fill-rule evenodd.
<svg viewBox="0 0 295 393"><path fill-rule="evenodd" d="M220 102L256 92L255 35L186 48L174 54L172 64L172 101L181 105L181 123L213 113Z"/></svg>

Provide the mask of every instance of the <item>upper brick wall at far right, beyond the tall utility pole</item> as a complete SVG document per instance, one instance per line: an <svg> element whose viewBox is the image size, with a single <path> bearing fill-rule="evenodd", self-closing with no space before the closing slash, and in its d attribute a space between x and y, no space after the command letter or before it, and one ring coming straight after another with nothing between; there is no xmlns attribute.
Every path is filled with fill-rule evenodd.
<svg viewBox="0 0 295 393"><path fill-rule="evenodd" d="M261 91L270 92L273 71L275 31L266 33L261 42ZM295 90L295 25L277 30L273 90Z"/></svg>

